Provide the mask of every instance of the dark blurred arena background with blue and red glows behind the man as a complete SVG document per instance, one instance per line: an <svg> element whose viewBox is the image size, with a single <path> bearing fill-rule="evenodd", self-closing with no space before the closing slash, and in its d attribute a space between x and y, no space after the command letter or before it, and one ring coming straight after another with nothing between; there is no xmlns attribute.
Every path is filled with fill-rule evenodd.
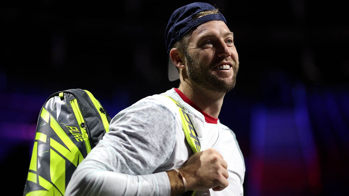
<svg viewBox="0 0 349 196"><path fill-rule="evenodd" d="M193 1L2 3L0 164L21 195L39 111L52 93L92 92L114 116L178 87L165 27ZM245 157L246 196L346 195L349 25L340 1L205 1L234 32L240 68L222 123ZM5 183L5 184L4 184Z"/></svg>

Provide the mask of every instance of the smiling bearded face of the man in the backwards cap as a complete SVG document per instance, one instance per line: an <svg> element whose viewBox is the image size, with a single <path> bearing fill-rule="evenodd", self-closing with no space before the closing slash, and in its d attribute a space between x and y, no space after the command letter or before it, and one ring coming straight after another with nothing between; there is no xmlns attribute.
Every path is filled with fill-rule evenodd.
<svg viewBox="0 0 349 196"><path fill-rule="evenodd" d="M223 21L199 25L192 32L185 56L189 80L215 92L234 88L239 60L233 33Z"/></svg>

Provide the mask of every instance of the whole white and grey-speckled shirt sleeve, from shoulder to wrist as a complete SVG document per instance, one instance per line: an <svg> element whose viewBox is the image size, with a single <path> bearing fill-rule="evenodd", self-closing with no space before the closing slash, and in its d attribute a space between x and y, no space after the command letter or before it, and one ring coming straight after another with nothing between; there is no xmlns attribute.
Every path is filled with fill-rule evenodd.
<svg viewBox="0 0 349 196"><path fill-rule="evenodd" d="M162 104L138 101L114 116L65 195L170 195L167 173L154 171L169 160L175 143L174 114Z"/></svg>

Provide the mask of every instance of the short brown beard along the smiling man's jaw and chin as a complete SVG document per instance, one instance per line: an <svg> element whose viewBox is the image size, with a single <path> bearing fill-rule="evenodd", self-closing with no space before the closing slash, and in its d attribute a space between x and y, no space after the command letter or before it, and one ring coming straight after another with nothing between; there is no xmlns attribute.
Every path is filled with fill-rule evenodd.
<svg viewBox="0 0 349 196"><path fill-rule="evenodd" d="M188 78L196 84L201 85L207 90L220 93L227 93L234 88L236 84L236 75L239 69L239 61L231 61L230 59L232 62L233 77L229 82L225 82L218 76L210 74L209 66L207 64L194 60L193 56L187 52L185 52L185 57L187 60Z"/></svg>

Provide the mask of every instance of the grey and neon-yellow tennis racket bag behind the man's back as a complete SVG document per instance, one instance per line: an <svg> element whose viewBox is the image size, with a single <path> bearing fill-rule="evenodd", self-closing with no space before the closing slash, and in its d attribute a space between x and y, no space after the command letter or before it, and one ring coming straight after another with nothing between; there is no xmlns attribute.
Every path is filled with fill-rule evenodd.
<svg viewBox="0 0 349 196"><path fill-rule="evenodd" d="M109 131L110 121L87 90L69 89L48 97L38 117L23 196L64 195L77 165Z"/></svg>

